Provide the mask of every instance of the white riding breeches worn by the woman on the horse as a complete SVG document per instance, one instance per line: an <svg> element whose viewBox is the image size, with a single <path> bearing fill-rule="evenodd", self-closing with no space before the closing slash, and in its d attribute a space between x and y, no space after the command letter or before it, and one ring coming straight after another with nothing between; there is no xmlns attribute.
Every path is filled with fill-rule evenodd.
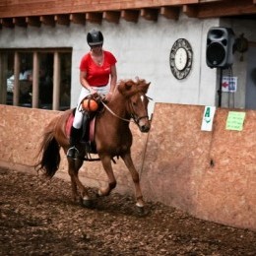
<svg viewBox="0 0 256 256"><path fill-rule="evenodd" d="M107 95L109 92L109 86L105 87L92 87L94 90L96 90L97 94L100 96ZM77 109L75 113L75 118L73 121L73 127L76 129L80 129L82 127L82 122L83 122L83 111L82 111L82 105L81 102L82 100L86 97L89 96L90 92L89 90L85 89L84 87L81 90L79 99L78 99L78 104L77 104Z"/></svg>

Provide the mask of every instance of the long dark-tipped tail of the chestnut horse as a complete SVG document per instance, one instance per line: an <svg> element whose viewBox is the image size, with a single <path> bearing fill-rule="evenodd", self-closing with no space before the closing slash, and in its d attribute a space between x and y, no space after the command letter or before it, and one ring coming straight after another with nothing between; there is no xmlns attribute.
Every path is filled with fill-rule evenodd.
<svg viewBox="0 0 256 256"><path fill-rule="evenodd" d="M46 131L41 142L38 155L42 154L41 159L35 164L37 172L42 170L46 176L53 177L60 163L60 147L54 138L52 130Z"/></svg>

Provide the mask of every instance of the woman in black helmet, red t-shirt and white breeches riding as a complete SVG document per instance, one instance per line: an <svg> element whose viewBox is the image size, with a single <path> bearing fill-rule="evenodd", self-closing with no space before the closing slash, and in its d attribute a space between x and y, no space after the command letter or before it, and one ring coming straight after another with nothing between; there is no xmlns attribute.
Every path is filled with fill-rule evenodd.
<svg viewBox="0 0 256 256"><path fill-rule="evenodd" d="M81 60L80 83L82 90L78 99L75 118L70 133L70 149L67 157L75 159L79 154L76 148L80 141L80 128L83 122L83 112L81 111L81 101L89 95L105 95L109 100L116 85L116 59L109 51L102 49L103 34L100 31L92 30L87 34L87 42L91 47ZM110 77L110 83L109 82Z"/></svg>

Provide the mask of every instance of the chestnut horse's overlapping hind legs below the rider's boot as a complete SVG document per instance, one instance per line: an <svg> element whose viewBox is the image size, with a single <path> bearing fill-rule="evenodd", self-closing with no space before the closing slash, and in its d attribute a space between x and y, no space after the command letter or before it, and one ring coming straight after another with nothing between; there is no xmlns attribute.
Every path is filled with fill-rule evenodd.
<svg viewBox="0 0 256 256"><path fill-rule="evenodd" d="M82 202L83 205L89 206L91 204L91 201L90 201L88 191L78 177L78 171L83 164L83 160L68 159L68 162L69 162L68 172L71 178L73 199L75 202L79 201L79 202Z"/></svg>

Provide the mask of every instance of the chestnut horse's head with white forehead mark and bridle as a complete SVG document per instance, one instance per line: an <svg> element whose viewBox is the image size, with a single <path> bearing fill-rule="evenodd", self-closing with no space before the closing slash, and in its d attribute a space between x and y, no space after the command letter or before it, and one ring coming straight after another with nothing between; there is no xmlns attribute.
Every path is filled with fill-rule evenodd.
<svg viewBox="0 0 256 256"><path fill-rule="evenodd" d="M137 79L121 81L118 86L119 92L127 99L127 112L139 126L140 131L145 133L151 128L148 115L149 97L146 96L150 84L145 80Z"/></svg>

